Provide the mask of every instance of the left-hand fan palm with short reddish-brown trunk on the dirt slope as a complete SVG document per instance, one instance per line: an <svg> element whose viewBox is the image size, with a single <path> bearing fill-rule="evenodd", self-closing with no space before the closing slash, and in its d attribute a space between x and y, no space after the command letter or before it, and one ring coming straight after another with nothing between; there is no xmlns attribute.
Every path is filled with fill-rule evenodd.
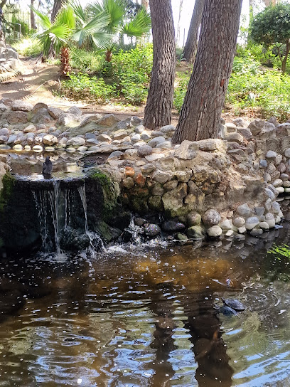
<svg viewBox="0 0 290 387"><path fill-rule="evenodd" d="M91 39L99 48L107 47L111 41L109 34L104 31L104 26L109 23L108 16L102 13L87 21L85 11L78 1L61 8L53 22L41 11L33 7L31 9L41 18L43 25L43 31L34 36L42 43L43 55L48 56L50 46L53 46L55 55L60 53L62 75L70 71L69 44L71 41L82 46L85 41Z"/></svg>

